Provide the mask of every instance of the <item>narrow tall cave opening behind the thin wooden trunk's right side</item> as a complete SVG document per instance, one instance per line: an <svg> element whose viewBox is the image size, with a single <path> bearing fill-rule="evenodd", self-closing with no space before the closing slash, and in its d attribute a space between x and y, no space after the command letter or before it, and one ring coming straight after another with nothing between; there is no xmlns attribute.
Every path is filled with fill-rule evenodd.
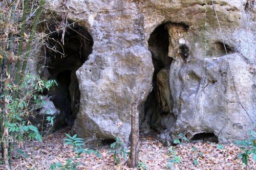
<svg viewBox="0 0 256 170"><path fill-rule="evenodd" d="M173 107L169 89L169 69L173 59L168 57L168 47L169 34L163 24L154 30L148 40L148 50L152 54L155 70L152 82L153 90L144 103L145 120L141 126L142 131L147 131L149 128L161 131L161 117L167 115Z"/></svg>

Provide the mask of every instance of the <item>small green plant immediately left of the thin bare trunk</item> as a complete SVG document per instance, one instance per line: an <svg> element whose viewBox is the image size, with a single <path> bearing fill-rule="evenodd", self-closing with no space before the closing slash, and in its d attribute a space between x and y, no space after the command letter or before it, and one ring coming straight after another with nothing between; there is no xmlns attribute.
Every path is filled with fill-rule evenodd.
<svg viewBox="0 0 256 170"><path fill-rule="evenodd" d="M112 148L110 150L110 154L113 154L113 159L117 165L121 163L121 158L126 160L127 156L130 154L128 149L124 147L124 144L119 140L117 136L116 141L112 143L110 147Z"/></svg>

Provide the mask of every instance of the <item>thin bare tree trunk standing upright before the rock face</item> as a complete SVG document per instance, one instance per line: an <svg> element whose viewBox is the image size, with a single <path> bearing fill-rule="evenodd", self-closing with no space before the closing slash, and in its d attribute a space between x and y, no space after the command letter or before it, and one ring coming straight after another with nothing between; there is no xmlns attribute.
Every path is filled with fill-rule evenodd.
<svg viewBox="0 0 256 170"><path fill-rule="evenodd" d="M132 104L132 132L131 151L127 161L130 168L138 166L139 163L139 109L136 103Z"/></svg>

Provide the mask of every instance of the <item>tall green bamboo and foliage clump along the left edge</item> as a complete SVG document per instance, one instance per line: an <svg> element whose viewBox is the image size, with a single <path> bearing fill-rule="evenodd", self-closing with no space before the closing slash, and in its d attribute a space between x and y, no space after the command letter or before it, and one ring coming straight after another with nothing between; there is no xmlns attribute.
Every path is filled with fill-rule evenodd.
<svg viewBox="0 0 256 170"><path fill-rule="evenodd" d="M23 94L22 89L31 80L25 80L25 70L33 42L41 40L41 36L34 35L44 5L44 0L0 1L0 144L6 169L11 167L12 149L24 140L22 136L28 134L30 139L41 140L36 128L27 120L30 103L36 102L32 101L33 95L37 98L36 92Z"/></svg>

